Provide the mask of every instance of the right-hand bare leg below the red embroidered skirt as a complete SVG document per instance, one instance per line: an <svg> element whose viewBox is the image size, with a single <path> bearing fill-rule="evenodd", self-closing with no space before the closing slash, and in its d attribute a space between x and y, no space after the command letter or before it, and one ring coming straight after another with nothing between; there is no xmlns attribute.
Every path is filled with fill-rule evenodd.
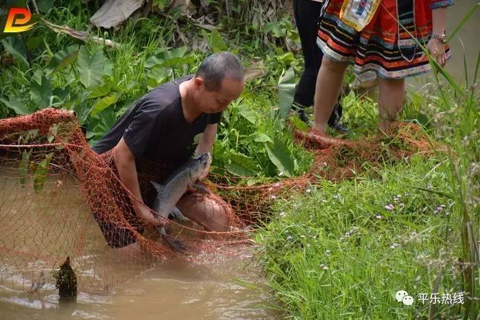
<svg viewBox="0 0 480 320"><path fill-rule="evenodd" d="M379 114L383 130L396 119L405 98L404 79L380 79Z"/></svg>

